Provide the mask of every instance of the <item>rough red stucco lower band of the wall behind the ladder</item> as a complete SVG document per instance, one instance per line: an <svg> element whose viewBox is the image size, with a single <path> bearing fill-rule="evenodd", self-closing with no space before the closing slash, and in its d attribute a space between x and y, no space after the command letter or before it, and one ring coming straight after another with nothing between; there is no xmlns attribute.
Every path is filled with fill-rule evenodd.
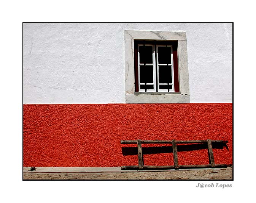
<svg viewBox="0 0 256 203"><path fill-rule="evenodd" d="M232 164L232 103L24 105L24 167L138 165L120 140L227 140L215 164ZM170 146L168 144L144 147ZM123 151L122 151L122 147ZM149 148L148 148L149 149ZM166 149L166 148L165 148ZM173 165L172 153L144 154L145 165ZM207 149L178 151L179 164L208 164Z"/></svg>

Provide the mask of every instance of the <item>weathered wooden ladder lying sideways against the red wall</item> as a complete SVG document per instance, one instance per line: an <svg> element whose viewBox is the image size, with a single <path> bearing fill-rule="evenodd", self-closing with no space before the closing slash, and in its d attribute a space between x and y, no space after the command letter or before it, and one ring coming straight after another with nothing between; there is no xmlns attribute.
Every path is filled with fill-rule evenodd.
<svg viewBox="0 0 256 203"><path fill-rule="evenodd" d="M178 165L177 144L203 144L207 143L209 164L205 165ZM222 140L121 140L121 144L137 144L138 148L138 166L122 166L122 170L131 169L188 169L188 168L216 168L216 167L230 167L232 164L215 164L213 157L213 149L211 143L226 144L227 141ZM142 155L142 144L172 144L174 166L144 166Z"/></svg>

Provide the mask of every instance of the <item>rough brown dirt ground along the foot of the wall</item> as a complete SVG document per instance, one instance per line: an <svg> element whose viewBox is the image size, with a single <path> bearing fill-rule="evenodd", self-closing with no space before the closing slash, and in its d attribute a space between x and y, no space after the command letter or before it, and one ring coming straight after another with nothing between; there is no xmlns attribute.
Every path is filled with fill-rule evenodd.
<svg viewBox="0 0 256 203"><path fill-rule="evenodd" d="M161 172L24 172L23 180L232 180L232 167L225 169L172 170Z"/></svg>

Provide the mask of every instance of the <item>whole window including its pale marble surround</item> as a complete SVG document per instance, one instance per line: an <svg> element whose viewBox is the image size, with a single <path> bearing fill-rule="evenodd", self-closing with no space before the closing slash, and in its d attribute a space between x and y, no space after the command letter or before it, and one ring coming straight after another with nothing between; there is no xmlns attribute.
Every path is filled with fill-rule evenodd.
<svg viewBox="0 0 256 203"><path fill-rule="evenodd" d="M126 103L189 103L186 32L125 30L124 59Z"/></svg>

